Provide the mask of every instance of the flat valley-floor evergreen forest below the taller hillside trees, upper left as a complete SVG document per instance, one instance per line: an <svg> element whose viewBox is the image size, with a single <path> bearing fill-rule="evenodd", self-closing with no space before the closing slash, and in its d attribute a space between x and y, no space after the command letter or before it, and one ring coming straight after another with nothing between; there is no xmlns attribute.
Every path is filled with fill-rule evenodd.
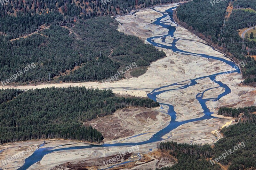
<svg viewBox="0 0 256 170"><path fill-rule="evenodd" d="M138 37L118 32L117 27L114 19L105 16L79 20L70 28L52 24L49 29L15 41L0 36L1 81L32 62L36 68L12 82L49 81L49 73L54 82L99 81L133 62L138 67L149 66L165 56Z"/></svg>

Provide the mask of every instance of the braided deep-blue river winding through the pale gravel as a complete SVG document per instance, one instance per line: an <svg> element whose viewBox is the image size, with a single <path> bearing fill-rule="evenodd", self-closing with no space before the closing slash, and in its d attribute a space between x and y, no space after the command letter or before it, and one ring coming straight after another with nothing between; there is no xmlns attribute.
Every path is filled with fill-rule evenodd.
<svg viewBox="0 0 256 170"><path fill-rule="evenodd" d="M31 156L29 156L28 158L25 159L24 165L19 168L20 170L28 169L28 167L30 167L31 165L33 165L36 162L42 160L42 158L46 154L49 154L49 153L52 153L52 152L55 152L55 151L81 150L81 149L94 148L94 147L96 149L96 147L116 147L116 146L142 145L142 144L148 144L148 143L153 143L153 142L159 142L159 141L163 140L162 137L164 135L170 133L173 129L179 127L180 125L183 125L183 124L188 123L188 122L195 122L195 121L198 121L198 120L206 120L206 119L213 118L211 116L212 112L210 112L209 108L206 105L206 102L207 101L217 101L221 97L223 97L223 96L225 96L225 95L227 95L231 92L230 88L226 84L223 84L221 81L216 81L215 77L217 75L221 75L221 74L224 74L224 73L225 74L240 73L240 69L239 69L238 66L236 66L236 64L234 62L226 60L224 58L214 57L214 56L210 56L210 55L206 55L206 54L198 54L198 53L193 53L193 52L188 52L188 51L178 49L176 47L176 42L179 40L179 38L174 37L174 32L176 31L176 27L171 26L171 25L166 25L166 24L162 23L163 21L160 21L161 19L164 19L165 17L168 17L168 15L169 15L171 17L171 20L174 22L173 17L172 17L172 12L173 12L173 9L175 9L175 8L176 7L172 7L170 9L166 10L166 12L161 12L163 14L163 16L158 18L154 23L152 23L152 24L156 24L156 25L162 26L164 28L167 28L169 30L168 34L164 35L164 36L150 37L150 38L147 39L147 41L149 43L151 43L152 45L156 46L156 47L171 49L172 51L174 51L176 53L188 54L188 55L192 55L192 56L198 56L198 57L203 57L203 58L210 58L210 59L214 59L214 60L219 60L219 61L222 61L222 62L224 62L224 63L228 64L229 66L231 66L233 68L236 68L236 69L235 70L232 69L233 71L230 70L230 71L227 71L227 72L216 73L216 74L212 74L212 75L208 75L208 76L198 77L196 79L191 79L191 80L186 80L186 81L181 81L181 82L173 83L173 84L170 84L170 85L166 85L166 86L154 89L151 93L148 94L148 97L150 99L154 100L154 101L157 101L157 96L164 93L164 92L177 90L177 89L186 89L188 87L196 85L197 80L209 78L209 81L210 80L214 81L219 86L201 91L195 96L195 98L199 101L199 103L202 106L204 116L200 117L200 118L195 118L195 119L185 120L185 121L179 122L179 121L176 121L176 112L174 111L174 106L173 105L166 104L166 103L159 103L160 105L166 105L166 106L169 107L167 114L169 114L171 116L171 118L172 118L171 122L166 128L160 130L159 132L157 132L155 135L153 135L150 139L148 139L146 141L138 142L138 143L136 143L136 142L134 142L134 143L115 143L115 144L105 143L105 144L102 144L100 146L99 145L75 146L75 147L60 148L60 149L39 148ZM155 10L154 8L152 8L152 9ZM171 36L171 37L174 38L173 42L169 43L170 45L164 45L164 44L161 44L161 43L156 43L153 40L153 39L161 38L162 41L165 42L165 38L167 36ZM172 86L174 86L175 88L172 88ZM224 92L222 94L216 96L216 97L212 97L212 98L208 98L208 99L203 98L204 93L206 91L214 89L214 88L222 88L222 89L224 89Z"/></svg>

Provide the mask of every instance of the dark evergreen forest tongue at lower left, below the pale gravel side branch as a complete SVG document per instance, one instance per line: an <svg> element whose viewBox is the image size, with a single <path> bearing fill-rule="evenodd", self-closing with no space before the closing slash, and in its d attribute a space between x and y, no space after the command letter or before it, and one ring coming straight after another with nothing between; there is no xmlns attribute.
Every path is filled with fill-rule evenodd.
<svg viewBox="0 0 256 170"><path fill-rule="evenodd" d="M6 89L0 90L0 97L0 144L52 138L101 142L101 133L83 122L128 106L159 105L148 98L116 97L111 90L84 87Z"/></svg>

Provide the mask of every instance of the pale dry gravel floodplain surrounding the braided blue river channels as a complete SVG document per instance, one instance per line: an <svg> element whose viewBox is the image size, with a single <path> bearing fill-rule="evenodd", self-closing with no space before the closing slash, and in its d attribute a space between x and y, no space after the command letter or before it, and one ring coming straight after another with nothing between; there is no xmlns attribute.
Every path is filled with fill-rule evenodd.
<svg viewBox="0 0 256 170"><path fill-rule="evenodd" d="M166 5L162 7L154 8L157 11L165 12L165 10L177 6L177 4ZM119 31L124 32L127 35L136 35L147 42L148 37L162 36L168 33L168 30L157 26L153 23L157 18L161 17L162 14L153 9L140 10L134 14L124 15L117 17L116 20L119 24ZM176 47L180 50L185 50L193 53L208 54L219 58L226 58L223 54L213 50L206 42L190 33L183 27L177 26L170 20L170 17L163 19L164 24L170 24L176 26L174 37L179 38L176 43ZM163 43L162 38L154 40L158 43ZM170 45L173 41L172 37L167 37L164 45ZM111 88L114 93L122 95L132 95L138 97L147 97L153 89L170 85L172 83L186 81L189 79L195 79L202 76L212 75L214 73L226 72L234 70L231 66L224 62L214 59L202 58L199 55L189 55L183 53L175 53L172 50L168 50L162 47L157 47L159 50L164 50L167 57L159 59L153 62L148 71L138 77L129 78L121 81L111 83L99 83L99 82L84 82L84 83L64 83L64 84L46 84L37 86L20 86L20 87L8 87L6 88L19 88L19 89L36 89L46 87L68 87L68 86L85 86L87 88L99 88L108 89ZM251 106L256 104L256 89L248 86L240 85L242 75L239 73L231 73L221 79L221 82L227 84L231 89L231 93L220 98L218 101L208 101L206 104L210 111L216 113L220 106ZM177 121L190 120L192 118L202 117L201 105L195 99L196 94L210 87L216 87L207 91L204 97L217 97L221 94L224 89L218 88L218 84L211 81L209 78L203 78L197 80L197 84L187 89L177 89L168 92L164 92L157 96L157 100L161 103L174 105L174 110L177 112ZM184 82L186 83L186 82ZM179 87L179 85L177 85ZM172 87L174 88L174 87ZM165 88L168 89L168 88ZM161 89L163 90L163 89ZM162 108L157 110L136 110L134 108L128 113L127 110L121 110L114 113L113 116L104 118L98 118L86 124L91 124L102 131L106 135L107 143L124 143L124 142L140 142L149 139L154 133L160 129L166 127L169 124L170 117L167 116L168 106L162 105ZM148 114L150 113L150 115ZM221 119L220 119L221 118ZM163 136L163 140L173 140L180 143L214 143L221 136L216 133L216 130L222 128L224 125L230 124L231 118L223 119L212 118L210 120L201 120L192 123L186 123L180 127L172 130L169 134ZM115 125L108 125L105 127L104 124L99 125L100 121L104 121L104 124L115 122ZM232 120L232 124L234 121ZM129 125L129 126L128 126ZM114 126L114 127L113 127ZM122 134L121 132L125 132ZM146 134L145 134L146 133ZM136 136L133 136L136 135ZM44 145L44 147L56 145L58 141L51 141ZM31 142L31 144L38 144L39 142ZM70 143L68 141L64 143ZM81 145L79 143L73 143ZM25 143L19 144L19 149L25 149L27 146ZM57 144L58 145L58 144ZM157 143L149 143L140 145L140 150L133 152L133 155L144 154L151 152L156 148ZM0 147L0 150L6 149L0 153L0 157L4 158L6 155L13 155L16 153L15 149L12 149L17 144L4 145ZM66 147L66 146L59 146ZM72 164L78 161L99 159L103 157L109 157L111 155L118 154L121 151L127 151L129 146L125 147L99 147L99 148L88 148L83 150L68 150L68 151L57 151L52 152L44 156L44 158L32 165L29 169L51 169L55 166L59 166L66 162ZM27 157L27 155L26 155ZM24 157L25 158L25 157ZM19 167L24 163L24 158L20 158L19 162L12 162L8 167ZM148 156L148 158L150 158ZM173 162L172 162L173 163ZM148 163L148 165L133 165L134 168L140 169L155 169L156 162ZM164 163L163 163L164 164ZM101 165L99 165L101 166ZM137 167L138 166L138 167ZM0 166L0 168L7 168L7 166ZM14 168L14 169L17 169ZM95 168L92 167L92 169ZM57 168L58 169L58 168Z"/></svg>

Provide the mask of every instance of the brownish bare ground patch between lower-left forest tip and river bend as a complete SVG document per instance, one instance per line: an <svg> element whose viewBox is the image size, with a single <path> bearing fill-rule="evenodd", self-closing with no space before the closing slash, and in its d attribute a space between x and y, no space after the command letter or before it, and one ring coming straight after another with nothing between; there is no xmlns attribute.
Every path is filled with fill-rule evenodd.
<svg viewBox="0 0 256 170"><path fill-rule="evenodd" d="M159 117L159 116L160 117ZM99 117L85 122L104 136L104 142L139 134L164 118L164 114L151 109L126 108L114 115ZM166 118L166 120L168 120Z"/></svg>

